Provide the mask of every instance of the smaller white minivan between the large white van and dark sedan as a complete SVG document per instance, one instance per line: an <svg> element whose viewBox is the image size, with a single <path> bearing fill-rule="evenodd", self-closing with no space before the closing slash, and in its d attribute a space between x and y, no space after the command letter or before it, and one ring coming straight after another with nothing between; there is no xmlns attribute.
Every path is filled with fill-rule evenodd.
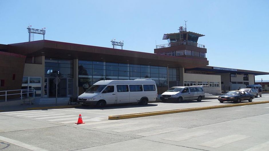
<svg viewBox="0 0 269 151"><path fill-rule="evenodd" d="M162 101L175 100L181 102L183 100L201 101L205 98L205 92L201 86L175 86L165 91L160 99Z"/></svg>

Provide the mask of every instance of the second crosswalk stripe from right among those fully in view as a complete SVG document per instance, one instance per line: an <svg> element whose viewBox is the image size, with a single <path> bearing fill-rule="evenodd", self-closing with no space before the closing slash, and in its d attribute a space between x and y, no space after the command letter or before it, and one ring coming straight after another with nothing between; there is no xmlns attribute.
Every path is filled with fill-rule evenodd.
<svg viewBox="0 0 269 151"><path fill-rule="evenodd" d="M187 140L187 139L191 139L191 138L195 138L195 137L199 137L199 136L203 136L203 135L207 135L207 134L211 134L211 133L214 133L214 132L202 130L199 132L191 132L191 133L187 133L187 134L182 134L182 136L163 138L163 140L171 140L171 141L179 142L182 140Z"/></svg>

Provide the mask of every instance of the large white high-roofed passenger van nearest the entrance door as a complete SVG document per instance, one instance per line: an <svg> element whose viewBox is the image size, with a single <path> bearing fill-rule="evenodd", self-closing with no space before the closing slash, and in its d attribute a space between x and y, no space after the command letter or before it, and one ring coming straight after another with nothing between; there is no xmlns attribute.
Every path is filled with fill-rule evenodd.
<svg viewBox="0 0 269 151"><path fill-rule="evenodd" d="M106 104L134 103L146 105L156 101L157 86L151 79L102 80L78 96L78 103L104 107Z"/></svg>

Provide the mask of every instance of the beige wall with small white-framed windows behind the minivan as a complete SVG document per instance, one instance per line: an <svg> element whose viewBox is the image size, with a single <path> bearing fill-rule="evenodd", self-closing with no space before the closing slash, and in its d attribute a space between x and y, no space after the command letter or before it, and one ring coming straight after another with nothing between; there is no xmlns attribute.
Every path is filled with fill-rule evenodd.
<svg viewBox="0 0 269 151"><path fill-rule="evenodd" d="M202 74L191 74L184 73L183 74L183 82L184 81L200 81L200 82L219 82L219 87L205 87L204 89L212 89L211 94L221 93L221 76L220 75L202 75ZM216 90L215 92L213 90ZM206 91L205 91L206 92Z"/></svg>

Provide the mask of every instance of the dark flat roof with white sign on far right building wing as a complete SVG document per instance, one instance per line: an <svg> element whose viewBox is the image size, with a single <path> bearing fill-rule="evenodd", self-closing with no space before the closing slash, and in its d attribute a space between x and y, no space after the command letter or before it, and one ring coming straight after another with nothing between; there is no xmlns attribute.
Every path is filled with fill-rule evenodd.
<svg viewBox="0 0 269 151"><path fill-rule="evenodd" d="M260 72L260 71L251 71L251 70L242 70L242 69L231 69L231 68L222 68L222 67L213 67L213 66L205 66L205 67L197 67L192 69L185 69L187 71L209 71L211 74L216 73L238 73L238 74L250 74L250 75L269 75L268 72Z"/></svg>

